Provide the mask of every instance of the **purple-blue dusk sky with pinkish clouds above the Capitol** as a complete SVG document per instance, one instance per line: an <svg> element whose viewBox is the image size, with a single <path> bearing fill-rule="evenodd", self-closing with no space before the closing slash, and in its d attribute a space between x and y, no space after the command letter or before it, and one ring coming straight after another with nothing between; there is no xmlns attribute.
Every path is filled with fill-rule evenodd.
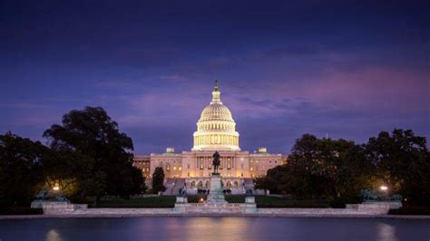
<svg viewBox="0 0 430 241"><path fill-rule="evenodd" d="M430 137L429 1L0 1L0 133L101 106L136 154L190 150L215 79L239 146Z"/></svg>

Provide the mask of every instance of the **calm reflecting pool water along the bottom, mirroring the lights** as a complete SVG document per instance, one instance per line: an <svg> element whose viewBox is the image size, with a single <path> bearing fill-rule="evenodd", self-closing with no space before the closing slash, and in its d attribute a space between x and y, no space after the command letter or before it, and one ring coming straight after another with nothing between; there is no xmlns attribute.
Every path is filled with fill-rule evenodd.
<svg viewBox="0 0 430 241"><path fill-rule="evenodd" d="M429 220L122 217L0 220L0 240L430 240Z"/></svg>

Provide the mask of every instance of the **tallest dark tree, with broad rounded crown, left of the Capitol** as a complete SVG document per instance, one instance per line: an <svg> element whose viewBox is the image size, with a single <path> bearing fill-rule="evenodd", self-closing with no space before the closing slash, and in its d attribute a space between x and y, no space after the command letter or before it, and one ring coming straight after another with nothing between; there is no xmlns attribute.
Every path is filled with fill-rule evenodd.
<svg viewBox="0 0 430 241"><path fill-rule="evenodd" d="M86 107L65 114L62 125L54 124L44 131L44 138L57 151L79 157L84 171L73 169L79 193L96 197L96 205L104 194L127 196L142 178L133 177L132 139L119 131L101 107ZM133 181L139 183L134 184Z"/></svg>

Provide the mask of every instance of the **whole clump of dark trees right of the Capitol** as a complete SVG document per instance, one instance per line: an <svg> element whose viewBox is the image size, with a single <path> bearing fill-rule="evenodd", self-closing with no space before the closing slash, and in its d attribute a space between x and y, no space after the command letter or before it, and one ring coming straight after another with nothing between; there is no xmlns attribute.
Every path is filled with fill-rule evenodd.
<svg viewBox="0 0 430 241"><path fill-rule="evenodd" d="M381 131L367 143L305 134L288 162L256 178L256 188L295 198L361 201L365 188L387 187L409 204L430 206L430 155L425 137L412 130Z"/></svg>

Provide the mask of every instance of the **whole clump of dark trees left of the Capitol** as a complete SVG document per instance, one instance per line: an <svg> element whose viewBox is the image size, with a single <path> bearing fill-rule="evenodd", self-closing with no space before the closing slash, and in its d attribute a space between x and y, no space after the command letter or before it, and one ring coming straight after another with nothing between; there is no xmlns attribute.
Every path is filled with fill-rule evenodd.
<svg viewBox="0 0 430 241"><path fill-rule="evenodd" d="M132 139L100 107L73 110L44 131L47 145L11 132L0 135L0 206L28 205L42 188L67 198L128 197L144 191L142 170L132 166Z"/></svg>

